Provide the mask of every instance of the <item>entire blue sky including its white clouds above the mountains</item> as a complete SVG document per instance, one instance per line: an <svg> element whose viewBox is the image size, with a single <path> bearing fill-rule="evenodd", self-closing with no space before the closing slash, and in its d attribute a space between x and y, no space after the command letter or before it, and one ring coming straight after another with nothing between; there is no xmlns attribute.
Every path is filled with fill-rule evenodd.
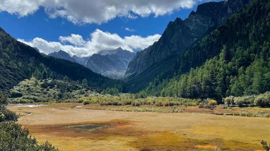
<svg viewBox="0 0 270 151"><path fill-rule="evenodd" d="M91 11L92 9L89 10L87 6L84 8L84 5L87 4L84 4L83 1L74 8L62 8L61 4L56 4L60 6L58 8L48 4L39 4L39 0L35 0L33 10L32 8L28 10L29 3L24 6L20 0L4 1L9 2L9 5L0 4L0 26L7 33L30 46L36 46L46 54L64 49L70 55L76 54L79 57L89 56L103 49L115 49L119 46L130 51L144 49L158 40L169 21L174 21L176 17L185 19L192 10L196 11L198 4L207 2L207 0L167 0L175 4L166 4L166 0L160 0L152 2L152 6L150 2L153 0L149 0L150 2L147 4L133 4L131 1L127 4L134 5L134 7L120 10L122 11L120 15L117 10L111 11L111 9L106 9L109 12L100 15L101 7L99 5L97 5L98 8L93 7L93 11ZM18 5L13 8L12 3L16 3L16 1L21 5L20 8L17 8ZM118 4L111 4L112 1L106 4L106 0L103 2L105 7L115 6L117 9ZM123 7L123 5L119 7ZM78 12L80 9L81 12ZM126 28L132 31L128 31ZM72 34L74 35L72 36Z"/></svg>

